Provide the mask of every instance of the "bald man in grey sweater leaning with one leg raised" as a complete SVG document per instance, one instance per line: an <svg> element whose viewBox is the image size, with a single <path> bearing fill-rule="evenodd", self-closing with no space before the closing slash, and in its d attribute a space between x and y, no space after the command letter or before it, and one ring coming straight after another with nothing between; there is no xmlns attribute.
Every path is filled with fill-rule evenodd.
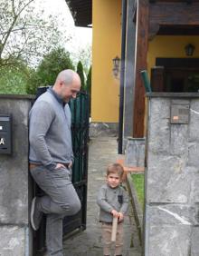
<svg viewBox="0 0 199 256"><path fill-rule="evenodd" d="M58 74L53 87L42 94L30 111L30 171L46 193L34 197L31 208L33 230L46 214L48 255L62 256L62 218L81 210L81 202L71 183L73 153L69 101L81 89L81 79L72 70Z"/></svg>

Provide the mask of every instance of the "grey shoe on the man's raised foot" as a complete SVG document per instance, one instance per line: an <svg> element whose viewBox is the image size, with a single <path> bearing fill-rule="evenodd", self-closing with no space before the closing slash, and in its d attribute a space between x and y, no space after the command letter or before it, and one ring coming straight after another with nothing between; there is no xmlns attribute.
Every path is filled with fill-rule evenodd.
<svg viewBox="0 0 199 256"><path fill-rule="evenodd" d="M38 200L38 197L34 197L31 205L31 225L34 231L39 229L43 218L43 212L38 210Z"/></svg>

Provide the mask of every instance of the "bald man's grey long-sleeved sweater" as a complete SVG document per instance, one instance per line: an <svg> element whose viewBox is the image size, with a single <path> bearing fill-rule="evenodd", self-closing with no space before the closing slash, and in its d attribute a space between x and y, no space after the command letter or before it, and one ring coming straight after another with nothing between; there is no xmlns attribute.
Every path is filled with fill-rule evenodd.
<svg viewBox="0 0 199 256"><path fill-rule="evenodd" d="M71 111L49 88L30 111L30 162L42 163L49 169L56 162L73 160L71 146Z"/></svg>

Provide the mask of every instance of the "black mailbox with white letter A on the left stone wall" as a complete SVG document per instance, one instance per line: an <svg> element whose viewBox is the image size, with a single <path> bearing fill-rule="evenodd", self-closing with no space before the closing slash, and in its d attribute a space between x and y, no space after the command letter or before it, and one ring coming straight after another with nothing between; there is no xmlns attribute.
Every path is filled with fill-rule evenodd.
<svg viewBox="0 0 199 256"><path fill-rule="evenodd" d="M12 153L12 116L0 114L0 154Z"/></svg>

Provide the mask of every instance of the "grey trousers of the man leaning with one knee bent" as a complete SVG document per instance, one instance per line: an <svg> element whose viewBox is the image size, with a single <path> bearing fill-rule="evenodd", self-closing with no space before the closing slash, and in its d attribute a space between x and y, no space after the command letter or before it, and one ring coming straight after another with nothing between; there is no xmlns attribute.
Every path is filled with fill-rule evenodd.
<svg viewBox="0 0 199 256"><path fill-rule="evenodd" d="M71 183L67 168L48 170L38 166L31 170L34 181L46 193L38 209L47 215L46 246L49 256L62 256L62 218L81 210L81 202Z"/></svg>

